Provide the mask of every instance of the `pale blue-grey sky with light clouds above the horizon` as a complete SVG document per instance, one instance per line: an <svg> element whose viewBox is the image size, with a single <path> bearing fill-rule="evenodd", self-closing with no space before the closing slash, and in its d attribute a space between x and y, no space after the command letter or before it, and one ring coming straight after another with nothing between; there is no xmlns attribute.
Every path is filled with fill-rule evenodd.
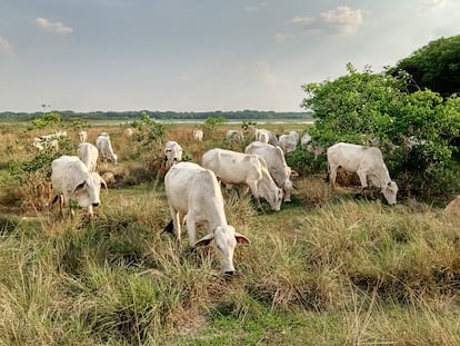
<svg viewBox="0 0 460 346"><path fill-rule="evenodd" d="M458 0L0 0L0 111L303 111L459 33Z"/></svg>

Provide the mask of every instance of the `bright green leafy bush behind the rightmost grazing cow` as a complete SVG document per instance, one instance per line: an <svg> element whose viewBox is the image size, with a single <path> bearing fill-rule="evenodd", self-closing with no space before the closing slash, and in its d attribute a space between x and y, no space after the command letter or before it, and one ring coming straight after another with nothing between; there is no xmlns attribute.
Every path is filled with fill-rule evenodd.
<svg viewBox="0 0 460 346"><path fill-rule="evenodd" d="M460 99L443 102L430 90L408 95L401 91L404 73L396 78L347 68L348 75L336 80L303 86L303 106L314 111L313 140L324 147L337 141L378 145L407 195L430 197L458 189L458 178L448 184L443 177L452 176L450 142L459 136Z"/></svg>

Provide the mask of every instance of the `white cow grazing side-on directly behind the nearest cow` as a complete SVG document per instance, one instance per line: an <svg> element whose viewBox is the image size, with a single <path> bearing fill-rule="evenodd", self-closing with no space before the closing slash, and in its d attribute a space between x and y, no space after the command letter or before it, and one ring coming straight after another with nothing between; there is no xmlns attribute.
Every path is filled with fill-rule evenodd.
<svg viewBox="0 0 460 346"><path fill-rule="evenodd" d="M226 184L249 186L259 207L259 198L263 197L272 210L280 210L282 191L271 178L266 160L259 155L214 148L204 152L202 166L211 169Z"/></svg>

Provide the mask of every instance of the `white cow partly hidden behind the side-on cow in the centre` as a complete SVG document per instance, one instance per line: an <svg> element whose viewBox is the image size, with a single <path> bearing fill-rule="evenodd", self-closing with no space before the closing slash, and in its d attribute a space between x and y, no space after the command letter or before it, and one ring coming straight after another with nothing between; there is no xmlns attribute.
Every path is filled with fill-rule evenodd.
<svg viewBox="0 0 460 346"><path fill-rule="evenodd" d="M244 149L246 154L257 154L263 157L267 161L268 170L278 187L283 191L283 201L291 201L291 194L294 189L291 176L298 176L286 164L284 154L280 147L274 147L269 144L253 141Z"/></svg>

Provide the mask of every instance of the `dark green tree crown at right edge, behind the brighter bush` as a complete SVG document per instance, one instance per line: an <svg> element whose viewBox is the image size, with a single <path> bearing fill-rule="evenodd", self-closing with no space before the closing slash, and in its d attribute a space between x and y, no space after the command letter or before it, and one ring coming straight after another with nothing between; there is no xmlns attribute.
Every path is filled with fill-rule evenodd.
<svg viewBox="0 0 460 346"><path fill-rule="evenodd" d="M440 38L400 60L391 73L404 70L412 76L410 91L430 89L442 97L460 92L460 34Z"/></svg>

